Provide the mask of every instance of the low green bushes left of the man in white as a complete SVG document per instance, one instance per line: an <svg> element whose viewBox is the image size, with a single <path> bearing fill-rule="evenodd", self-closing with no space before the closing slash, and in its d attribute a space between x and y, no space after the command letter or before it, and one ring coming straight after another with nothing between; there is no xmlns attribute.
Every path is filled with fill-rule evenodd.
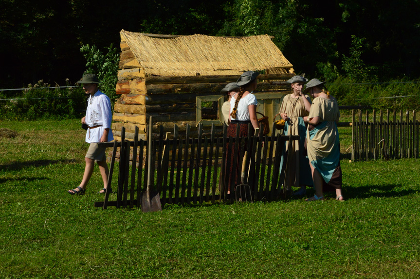
<svg viewBox="0 0 420 279"><path fill-rule="evenodd" d="M67 81L67 86L69 85ZM7 96L3 93L2 98L13 99L0 102L0 118L68 119L84 115L86 97L81 87L45 87L50 87L50 84L40 80L34 85L29 84L20 94L13 93L13 96Z"/></svg>

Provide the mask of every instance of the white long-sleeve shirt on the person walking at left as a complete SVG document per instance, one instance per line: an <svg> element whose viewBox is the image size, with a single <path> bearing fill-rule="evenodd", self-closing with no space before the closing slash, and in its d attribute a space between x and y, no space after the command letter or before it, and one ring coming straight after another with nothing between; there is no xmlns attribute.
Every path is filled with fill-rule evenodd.
<svg viewBox="0 0 420 279"><path fill-rule="evenodd" d="M107 128L110 129L108 132L108 141L114 139L111 131L112 111L110 98L99 90L96 91L93 97L89 96L85 122L89 127L102 125L94 129L88 129L85 139L87 143L100 142L104 130Z"/></svg>

